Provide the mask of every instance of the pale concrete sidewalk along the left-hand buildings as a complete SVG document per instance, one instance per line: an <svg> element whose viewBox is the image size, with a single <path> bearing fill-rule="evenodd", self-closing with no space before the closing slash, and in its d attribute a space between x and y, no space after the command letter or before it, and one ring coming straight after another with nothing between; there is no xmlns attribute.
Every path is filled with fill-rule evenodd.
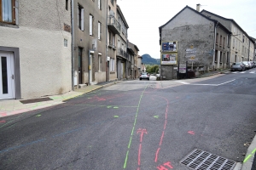
<svg viewBox="0 0 256 170"><path fill-rule="evenodd" d="M84 88L78 88L78 89L75 89L74 91L70 91L66 94L46 96L47 98L49 98L49 100L35 102L35 103L23 104L20 101L22 101L24 99L0 100L0 118L5 117L5 116L13 116L13 115L24 113L27 111L35 111L35 110L43 109L43 108L53 106L53 105L60 105L60 104L64 103L65 100L67 100L67 99L72 99L79 95L87 94L87 93L90 93L91 91L94 91L98 88L107 87L107 86L113 85L118 82L121 82L121 81L102 82L102 83L98 83L96 85L91 85L91 86L87 86ZM46 98L46 97L44 97L44 98ZM43 99L43 98L41 98L41 99Z"/></svg>

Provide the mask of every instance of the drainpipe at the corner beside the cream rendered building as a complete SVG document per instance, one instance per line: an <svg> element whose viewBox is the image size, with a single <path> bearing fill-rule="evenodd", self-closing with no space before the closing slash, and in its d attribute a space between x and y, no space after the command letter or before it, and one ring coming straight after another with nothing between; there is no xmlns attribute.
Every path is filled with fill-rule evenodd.
<svg viewBox="0 0 256 170"><path fill-rule="evenodd" d="M73 72L74 72L74 69L73 69L73 65L74 65L74 58L73 58L73 42L74 42L74 31L73 31L73 8L74 8L74 6L73 6L73 1L74 0L71 0L71 2L72 2L72 8L71 8L71 27L72 27L72 33L71 33L71 36L72 36L72 45L71 45L71 63L72 63L72 73L71 73L71 80L72 80L72 90L74 90L74 80L73 80Z"/></svg>

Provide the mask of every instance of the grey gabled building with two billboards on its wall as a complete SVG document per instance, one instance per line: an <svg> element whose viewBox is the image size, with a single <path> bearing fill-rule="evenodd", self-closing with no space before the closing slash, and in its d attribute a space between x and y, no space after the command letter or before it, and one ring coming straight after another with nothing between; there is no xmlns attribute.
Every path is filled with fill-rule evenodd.
<svg viewBox="0 0 256 170"><path fill-rule="evenodd" d="M160 26L159 31L160 73L163 78L177 78L179 66L183 69L187 65L195 74L227 67L231 32L217 20L186 6Z"/></svg>

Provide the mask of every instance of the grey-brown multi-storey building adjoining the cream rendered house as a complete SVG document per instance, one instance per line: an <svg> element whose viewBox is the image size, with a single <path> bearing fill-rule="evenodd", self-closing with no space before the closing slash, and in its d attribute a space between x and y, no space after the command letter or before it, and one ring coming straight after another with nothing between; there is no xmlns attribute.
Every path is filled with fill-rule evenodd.
<svg viewBox="0 0 256 170"><path fill-rule="evenodd" d="M73 0L73 85L106 82L107 2Z"/></svg>

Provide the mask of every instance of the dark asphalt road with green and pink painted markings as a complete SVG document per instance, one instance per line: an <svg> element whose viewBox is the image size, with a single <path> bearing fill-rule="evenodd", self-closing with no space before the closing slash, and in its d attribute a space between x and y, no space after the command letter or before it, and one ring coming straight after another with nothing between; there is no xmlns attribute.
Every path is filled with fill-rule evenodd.
<svg viewBox="0 0 256 170"><path fill-rule="evenodd" d="M5 117L0 169L186 170L180 161L195 149L243 161L256 130L255 71L126 81Z"/></svg>

